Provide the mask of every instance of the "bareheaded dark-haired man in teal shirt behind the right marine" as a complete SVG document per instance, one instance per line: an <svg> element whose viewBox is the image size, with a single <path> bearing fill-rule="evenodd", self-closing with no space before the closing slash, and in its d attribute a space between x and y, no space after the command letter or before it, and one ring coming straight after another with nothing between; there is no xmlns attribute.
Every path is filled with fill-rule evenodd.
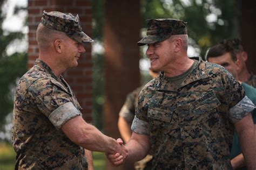
<svg viewBox="0 0 256 170"><path fill-rule="evenodd" d="M211 47L206 55L206 59L209 62L217 63L228 70L236 79L238 79L238 70L240 67L240 60L237 57L231 45L228 44L217 44ZM245 82L240 82L244 88L245 95L256 104L256 89ZM254 122L254 128L256 128L256 110L252 111L252 118ZM250 146L248 146L250 147ZM233 145L231 150L231 165L234 169L246 169L245 159L241 153L241 148L237 136L237 132L234 133ZM243 168L242 168L243 167Z"/></svg>

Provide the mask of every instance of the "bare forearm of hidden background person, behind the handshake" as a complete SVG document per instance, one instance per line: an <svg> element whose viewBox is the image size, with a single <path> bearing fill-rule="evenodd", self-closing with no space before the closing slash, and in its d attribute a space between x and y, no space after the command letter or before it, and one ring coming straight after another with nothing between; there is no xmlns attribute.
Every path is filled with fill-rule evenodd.
<svg viewBox="0 0 256 170"><path fill-rule="evenodd" d="M132 136L131 124L128 123L123 117L119 117L118 129L122 138L124 139L124 142L127 143Z"/></svg>

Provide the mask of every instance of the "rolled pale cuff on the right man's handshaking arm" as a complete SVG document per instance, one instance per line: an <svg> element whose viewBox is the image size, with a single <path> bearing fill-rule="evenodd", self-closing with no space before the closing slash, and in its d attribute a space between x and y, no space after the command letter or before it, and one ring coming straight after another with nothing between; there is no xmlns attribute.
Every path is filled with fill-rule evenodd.
<svg viewBox="0 0 256 170"><path fill-rule="evenodd" d="M149 122L142 121L138 119L136 116L133 119L131 129L133 132L143 135L149 135Z"/></svg>

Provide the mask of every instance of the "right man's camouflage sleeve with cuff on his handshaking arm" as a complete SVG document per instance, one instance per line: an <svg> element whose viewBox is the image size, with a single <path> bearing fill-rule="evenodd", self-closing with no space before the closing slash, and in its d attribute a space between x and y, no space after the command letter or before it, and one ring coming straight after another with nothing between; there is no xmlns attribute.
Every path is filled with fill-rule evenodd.
<svg viewBox="0 0 256 170"><path fill-rule="evenodd" d="M131 129L138 134L149 135L149 122L147 121L147 108L149 104L145 96L146 93L147 90L144 88L139 94L136 116L133 119Z"/></svg>

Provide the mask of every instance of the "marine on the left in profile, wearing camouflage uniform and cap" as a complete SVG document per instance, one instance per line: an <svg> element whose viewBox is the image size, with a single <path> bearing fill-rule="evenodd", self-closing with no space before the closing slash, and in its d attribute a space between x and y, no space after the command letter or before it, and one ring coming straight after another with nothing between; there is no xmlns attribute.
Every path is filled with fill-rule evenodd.
<svg viewBox="0 0 256 170"><path fill-rule="evenodd" d="M37 41L39 57L19 80L14 99L15 169L87 169L92 158L86 160L85 148L121 154L123 148L115 139L83 120L82 108L61 75L75 67L85 52L83 43L93 41L82 31L78 15L44 11ZM44 42L52 44L46 48Z"/></svg>

